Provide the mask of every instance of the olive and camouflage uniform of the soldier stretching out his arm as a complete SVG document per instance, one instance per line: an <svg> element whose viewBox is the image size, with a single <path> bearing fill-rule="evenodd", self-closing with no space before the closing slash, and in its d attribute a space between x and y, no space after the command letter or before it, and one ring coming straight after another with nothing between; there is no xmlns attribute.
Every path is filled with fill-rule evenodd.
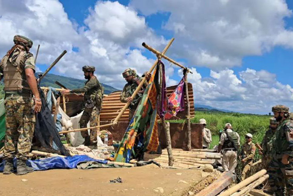
<svg viewBox="0 0 293 196"><path fill-rule="evenodd" d="M87 123L89 122L90 126L98 125L99 113L102 108L103 101L103 87L99 83L96 76L93 76L88 81L85 82L85 86L79 89L71 90L72 93L85 93L84 94L84 105L85 110L83 111L83 115L79 120L80 128L86 128ZM92 100L92 107L87 107L87 101ZM81 135L83 138L89 136L87 131L82 131ZM96 143L97 140L97 129L90 130L90 141L92 143Z"/></svg>

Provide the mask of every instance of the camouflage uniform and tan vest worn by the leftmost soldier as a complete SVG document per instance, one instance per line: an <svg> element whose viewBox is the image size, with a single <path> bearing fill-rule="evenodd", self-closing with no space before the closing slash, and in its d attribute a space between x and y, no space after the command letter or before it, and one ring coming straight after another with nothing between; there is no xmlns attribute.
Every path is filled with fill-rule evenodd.
<svg viewBox="0 0 293 196"><path fill-rule="evenodd" d="M17 42L15 41L15 43ZM15 86L11 88L15 85L10 82L14 73L5 73L11 65L18 66L19 72L21 72L22 82L18 88ZM24 51L20 45L15 45L0 62L1 78L4 76L5 83L5 160L11 160L15 156L22 160L29 158L35 129L35 114L33 111L34 101L25 76L25 69L28 68L35 72L34 57L31 53Z"/></svg>

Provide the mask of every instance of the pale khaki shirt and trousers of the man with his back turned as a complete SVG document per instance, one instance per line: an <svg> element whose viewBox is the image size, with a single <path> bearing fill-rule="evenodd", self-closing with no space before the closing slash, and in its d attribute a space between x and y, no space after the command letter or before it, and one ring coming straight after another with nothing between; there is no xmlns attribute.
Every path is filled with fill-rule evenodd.
<svg viewBox="0 0 293 196"><path fill-rule="evenodd" d="M227 133L231 133L232 131L227 130ZM240 146L240 137L238 133L235 132L235 135L237 137L236 145ZM227 142L227 135L223 131L221 134L221 138L219 141L219 144L223 146L223 158L222 158L222 167L224 171L232 171L235 172L235 168L237 166L237 150L231 146L231 147L226 147L224 144Z"/></svg>

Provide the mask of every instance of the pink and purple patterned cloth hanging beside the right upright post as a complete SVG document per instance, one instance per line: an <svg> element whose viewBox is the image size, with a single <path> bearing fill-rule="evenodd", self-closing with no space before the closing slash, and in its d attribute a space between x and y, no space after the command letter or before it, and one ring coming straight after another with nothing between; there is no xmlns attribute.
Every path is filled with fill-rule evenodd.
<svg viewBox="0 0 293 196"><path fill-rule="evenodd" d="M167 112L165 119L170 119L176 116L178 112L184 110L184 76L180 80L176 89L168 97Z"/></svg>

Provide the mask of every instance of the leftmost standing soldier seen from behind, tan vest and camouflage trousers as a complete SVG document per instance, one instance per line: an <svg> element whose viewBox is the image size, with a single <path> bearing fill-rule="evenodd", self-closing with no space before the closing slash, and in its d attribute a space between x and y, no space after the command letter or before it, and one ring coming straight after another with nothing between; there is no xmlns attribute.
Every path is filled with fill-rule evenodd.
<svg viewBox="0 0 293 196"><path fill-rule="evenodd" d="M20 35L15 35L13 41L15 45L0 62L6 110L3 174L12 173L13 158L16 156L16 174L24 175L33 172L33 168L26 166L26 160L29 158L35 129L34 112L41 110L42 102L34 75L34 57L29 53L32 41Z"/></svg>

